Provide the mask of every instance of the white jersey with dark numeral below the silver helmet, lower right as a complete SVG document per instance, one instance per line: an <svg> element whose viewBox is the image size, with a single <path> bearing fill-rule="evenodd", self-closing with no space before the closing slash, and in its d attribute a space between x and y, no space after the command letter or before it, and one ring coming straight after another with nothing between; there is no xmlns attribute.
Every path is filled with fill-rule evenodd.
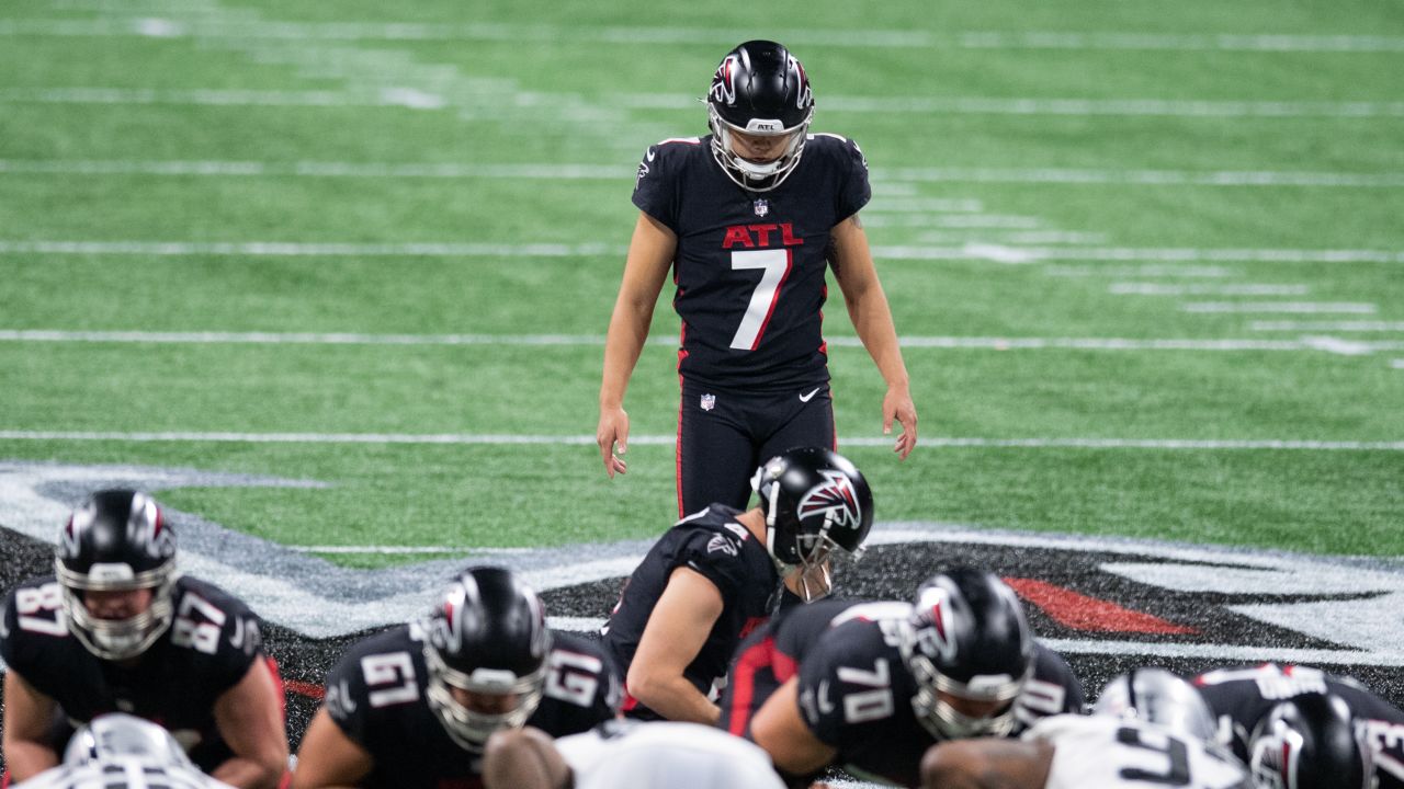
<svg viewBox="0 0 1404 789"><path fill-rule="evenodd" d="M1143 720L1106 715L1045 717L1025 740L1053 745L1043 789L1248 789L1233 755Z"/></svg>

